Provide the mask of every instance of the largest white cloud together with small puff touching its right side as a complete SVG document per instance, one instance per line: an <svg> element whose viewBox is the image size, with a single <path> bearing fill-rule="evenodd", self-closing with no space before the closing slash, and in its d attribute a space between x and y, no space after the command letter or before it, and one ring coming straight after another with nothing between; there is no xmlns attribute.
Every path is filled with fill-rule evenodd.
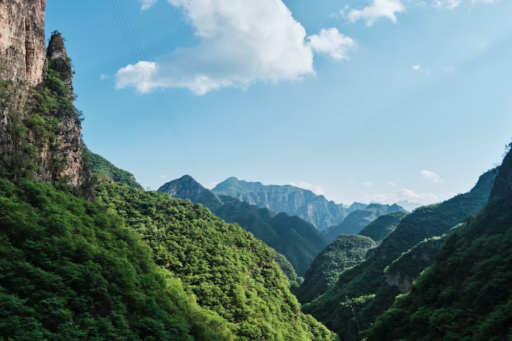
<svg viewBox="0 0 512 341"><path fill-rule="evenodd" d="M167 2L184 10L199 44L123 67L116 87L142 93L157 86L180 87L204 95L221 87L300 80L315 74L313 49L347 59L346 51L355 44L335 29L307 37L281 0Z"/></svg>

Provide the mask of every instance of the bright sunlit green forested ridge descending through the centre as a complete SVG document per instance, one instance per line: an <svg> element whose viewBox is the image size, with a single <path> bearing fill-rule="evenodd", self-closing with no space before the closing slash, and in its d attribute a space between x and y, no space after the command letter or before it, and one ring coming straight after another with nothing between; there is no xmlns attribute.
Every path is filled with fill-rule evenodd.
<svg viewBox="0 0 512 341"><path fill-rule="evenodd" d="M153 250L157 264L181 280L198 304L223 317L240 339L330 340L300 311L274 251L200 204L118 184L98 199L121 215Z"/></svg>

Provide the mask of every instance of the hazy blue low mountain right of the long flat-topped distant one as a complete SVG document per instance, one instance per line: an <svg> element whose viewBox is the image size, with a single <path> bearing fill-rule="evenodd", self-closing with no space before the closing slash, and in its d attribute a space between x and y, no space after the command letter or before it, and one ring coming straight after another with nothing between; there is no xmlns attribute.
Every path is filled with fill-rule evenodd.
<svg viewBox="0 0 512 341"><path fill-rule="evenodd" d="M406 210L402 209L396 203L391 206L387 204L371 203L364 209L351 212L342 223L330 226L328 229L322 231L322 234L329 240L335 240L340 234L357 234L379 216L392 212L406 212Z"/></svg>

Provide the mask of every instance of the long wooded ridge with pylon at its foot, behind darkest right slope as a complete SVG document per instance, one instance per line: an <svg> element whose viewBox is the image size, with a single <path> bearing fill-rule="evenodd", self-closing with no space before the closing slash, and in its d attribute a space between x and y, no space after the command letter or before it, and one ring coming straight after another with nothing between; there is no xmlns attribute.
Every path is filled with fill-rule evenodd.
<svg viewBox="0 0 512 341"><path fill-rule="evenodd" d="M470 192L418 208L403 217L369 259L343 272L329 291L305 305L303 311L311 313L341 338L357 334L357 325L368 328L399 293L398 287L382 286L386 267L425 238L449 233L453 226L477 214L487 202L495 178L496 169L490 170L480 176Z"/></svg>

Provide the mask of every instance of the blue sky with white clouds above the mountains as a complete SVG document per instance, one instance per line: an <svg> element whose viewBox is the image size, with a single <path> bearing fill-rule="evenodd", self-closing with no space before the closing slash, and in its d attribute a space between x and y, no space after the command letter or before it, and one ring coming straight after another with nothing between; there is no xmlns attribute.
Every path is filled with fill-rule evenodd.
<svg viewBox="0 0 512 341"><path fill-rule="evenodd" d="M84 141L145 188L236 176L425 204L502 160L510 13L509 0L50 0L46 35L66 38Z"/></svg>

